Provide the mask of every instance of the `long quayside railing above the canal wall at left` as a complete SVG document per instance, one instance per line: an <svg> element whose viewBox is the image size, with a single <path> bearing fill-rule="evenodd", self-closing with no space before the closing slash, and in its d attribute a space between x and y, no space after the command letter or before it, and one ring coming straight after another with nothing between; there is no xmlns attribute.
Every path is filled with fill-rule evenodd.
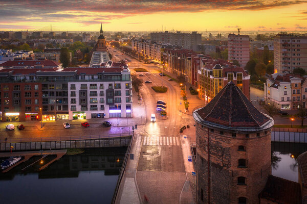
<svg viewBox="0 0 307 204"><path fill-rule="evenodd" d="M10 138L0 139L0 143L19 143L19 142L55 142L55 141L74 141L74 140L95 140L128 137L129 133L109 134L109 135L89 135L89 136L71 136L71 137L38 137L38 138Z"/></svg>

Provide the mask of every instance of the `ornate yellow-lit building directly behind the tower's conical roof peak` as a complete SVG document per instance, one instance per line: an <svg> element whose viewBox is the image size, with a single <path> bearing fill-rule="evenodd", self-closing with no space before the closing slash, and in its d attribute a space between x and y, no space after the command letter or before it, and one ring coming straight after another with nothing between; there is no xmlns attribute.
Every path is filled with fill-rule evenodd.
<svg viewBox="0 0 307 204"><path fill-rule="evenodd" d="M201 59L198 75L199 97L205 100L206 104L230 81L250 98L250 75L242 67L223 60Z"/></svg>

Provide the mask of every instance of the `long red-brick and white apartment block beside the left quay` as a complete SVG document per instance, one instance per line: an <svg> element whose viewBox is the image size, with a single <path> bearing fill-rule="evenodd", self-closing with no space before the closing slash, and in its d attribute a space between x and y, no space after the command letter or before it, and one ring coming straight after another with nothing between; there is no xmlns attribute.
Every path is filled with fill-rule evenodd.
<svg viewBox="0 0 307 204"><path fill-rule="evenodd" d="M132 117L130 70L105 65L0 70L1 121Z"/></svg>

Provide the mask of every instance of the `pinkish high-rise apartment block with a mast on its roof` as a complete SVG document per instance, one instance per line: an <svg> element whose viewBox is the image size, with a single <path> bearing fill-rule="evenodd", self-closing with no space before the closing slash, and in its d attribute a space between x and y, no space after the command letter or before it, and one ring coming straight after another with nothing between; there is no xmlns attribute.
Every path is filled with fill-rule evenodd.
<svg viewBox="0 0 307 204"><path fill-rule="evenodd" d="M228 35L228 60L238 61L241 67L245 67L250 58L249 35Z"/></svg>

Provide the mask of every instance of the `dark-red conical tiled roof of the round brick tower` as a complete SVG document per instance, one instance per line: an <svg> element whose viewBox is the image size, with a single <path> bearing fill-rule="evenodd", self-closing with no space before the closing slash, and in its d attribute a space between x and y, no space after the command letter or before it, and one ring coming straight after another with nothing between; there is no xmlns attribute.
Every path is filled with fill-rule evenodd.
<svg viewBox="0 0 307 204"><path fill-rule="evenodd" d="M229 82L206 107L195 110L193 116L209 126L231 130L255 131L274 125L274 120L258 111L233 82Z"/></svg>

